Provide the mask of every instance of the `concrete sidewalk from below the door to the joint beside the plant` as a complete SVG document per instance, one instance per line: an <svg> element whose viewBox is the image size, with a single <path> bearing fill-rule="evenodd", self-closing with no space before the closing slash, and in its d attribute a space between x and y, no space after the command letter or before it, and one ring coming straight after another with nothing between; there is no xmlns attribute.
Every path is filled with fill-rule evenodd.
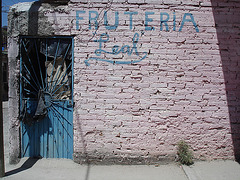
<svg viewBox="0 0 240 180"><path fill-rule="evenodd" d="M79 165L67 159L27 159L17 166L6 166L6 177L16 180L187 180L181 167L162 166L95 166Z"/></svg>

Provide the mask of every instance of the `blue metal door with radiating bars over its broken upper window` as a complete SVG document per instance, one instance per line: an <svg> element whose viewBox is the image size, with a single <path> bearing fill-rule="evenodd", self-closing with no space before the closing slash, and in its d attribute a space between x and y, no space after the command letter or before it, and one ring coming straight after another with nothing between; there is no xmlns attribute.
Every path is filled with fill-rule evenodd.
<svg viewBox="0 0 240 180"><path fill-rule="evenodd" d="M20 38L22 157L73 154L73 38Z"/></svg>

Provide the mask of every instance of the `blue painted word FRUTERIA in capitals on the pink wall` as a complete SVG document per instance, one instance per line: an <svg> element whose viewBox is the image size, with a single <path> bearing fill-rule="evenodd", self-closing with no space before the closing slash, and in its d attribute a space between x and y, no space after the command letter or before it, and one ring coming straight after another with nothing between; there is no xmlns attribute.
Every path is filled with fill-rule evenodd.
<svg viewBox="0 0 240 180"><path fill-rule="evenodd" d="M81 20L85 20L84 17L82 16L82 14L85 14L86 11L76 11L76 29L79 30L80 29L80 22ZM93 27L95 28L95 30L97 30L99 28L99 23L98 20L100 19L100 15L97 11L89 11L88 12L88 29L92 30ZM115 22L113 22L114 24L110 24L109 23L109 17L108 17L108 11L105 11L103 14L103 19L104 19L104 26L107 30L116 30L119 26L119 12L115 11L114 15L115 15ZM129 17L125 17L125 18L129 18L129 29L132 30L133 27L133 18L136 17L136 15L138 15L138 12L135 11L125 11L122 12L122 14L124 15L128 15ZM152 16L154 15L155 12L145 12L145 19L144 19L144 29L146 31L151 31L151 30L155 30L156 27L151 25L153 24L152 22L155 20L154 17L156 16ZM110 16L110 15L109 15ZM151 17L152 16L152 17ZM170 21L170 18L171 21ZM170 15L167 12L160 12L160 31L170 31L170 27L173 28L173 31L177 31L177 22L176 22L176 13L172 12L172 15ZM127 19L126 19L127 20ZM178 29L179 32L182 31L184 25L186 25L186 23L191 22L196 30L196 32L199 32L199 28L197 26L196 21L194 20L194 16L191 13L185 13L182 17L182 21L180 24L180 27ZM84 22L86 23L86 22ZM172 23L172 24L170 24ZM138 26L140 27L140 26Z"/></svg>

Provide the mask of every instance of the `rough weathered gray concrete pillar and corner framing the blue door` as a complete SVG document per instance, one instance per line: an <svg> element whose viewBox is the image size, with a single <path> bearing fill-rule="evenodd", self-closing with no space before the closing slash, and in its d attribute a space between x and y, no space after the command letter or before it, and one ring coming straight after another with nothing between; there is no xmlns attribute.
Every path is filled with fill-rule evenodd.
<svg viewBox="0 0 240 180"><path fill-rule="evenodd" d="M19 120L19 37L22 35L53 35L51 24L44 18L44 11L51 6L40 2L19 3L8 14L8 61L9 61L9 162L18 163L20 158Z"/></svg>

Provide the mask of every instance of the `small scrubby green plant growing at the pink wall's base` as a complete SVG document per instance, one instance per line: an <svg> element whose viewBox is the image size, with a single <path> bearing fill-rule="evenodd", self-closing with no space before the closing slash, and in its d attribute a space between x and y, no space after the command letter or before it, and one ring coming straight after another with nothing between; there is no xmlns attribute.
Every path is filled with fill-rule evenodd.
<svg viewBox="0 0 240 180"><path fill-rule="evenodd" d="M183 140L177 143L177 160L188 166L193 164L193 154L189 148L190 146Z"/></svg>

